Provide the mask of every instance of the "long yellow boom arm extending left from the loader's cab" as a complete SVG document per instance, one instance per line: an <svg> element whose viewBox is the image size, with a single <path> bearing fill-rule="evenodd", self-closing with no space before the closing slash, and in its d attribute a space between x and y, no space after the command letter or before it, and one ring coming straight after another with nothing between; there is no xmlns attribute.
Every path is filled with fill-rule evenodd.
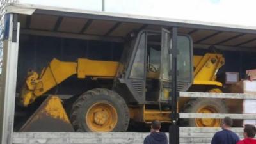
<svg viewBox="0 0 256 144"><path fill-rule="evenodd" d="M54 58L45 67L40 76L34 71L29 71L26 83L20 92L20 103L28 106L45 92L54 88L68 77L77 74L78 78L86 76L113 78L116 74L118 63L114 61L95 61L79 58L77 62L63 62Z"/></svg>

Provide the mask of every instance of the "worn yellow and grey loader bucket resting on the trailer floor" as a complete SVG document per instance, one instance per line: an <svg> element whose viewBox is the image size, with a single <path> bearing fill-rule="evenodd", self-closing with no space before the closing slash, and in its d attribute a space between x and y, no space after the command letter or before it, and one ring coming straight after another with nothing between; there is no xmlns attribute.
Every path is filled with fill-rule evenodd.
<svg viewBox="0 0 256 144"><path fill-rule="evenodd" d="M21 132L74 132L61 99L51 95L20 129Z"/></svg>

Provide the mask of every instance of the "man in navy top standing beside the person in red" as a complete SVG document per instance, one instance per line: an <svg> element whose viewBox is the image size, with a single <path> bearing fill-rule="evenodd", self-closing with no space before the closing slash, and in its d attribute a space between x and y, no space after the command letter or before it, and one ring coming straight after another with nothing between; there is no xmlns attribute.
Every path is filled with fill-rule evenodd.
<svg viewBox="0 0 256 144"><path fill-rule="evenodd" d="M230 117L225 117L222 124L223 130L214 134L212 144L236 144L239 137L231 131L232 125L233 120Z"/></svg>

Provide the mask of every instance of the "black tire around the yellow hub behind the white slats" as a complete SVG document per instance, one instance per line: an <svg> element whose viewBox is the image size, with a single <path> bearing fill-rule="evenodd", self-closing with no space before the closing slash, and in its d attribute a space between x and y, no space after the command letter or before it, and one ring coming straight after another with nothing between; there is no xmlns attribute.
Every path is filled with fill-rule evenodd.
<svg viewBox="0 0 256 144"><path fill-rule="evenodd" d="M182 111L184 113L196 113L202 106L211 106L218 113L228 113L228 108L221 99L191 99L186 102ZM181 123L182 126L197 127L195 118L184 119Z"/></svg>

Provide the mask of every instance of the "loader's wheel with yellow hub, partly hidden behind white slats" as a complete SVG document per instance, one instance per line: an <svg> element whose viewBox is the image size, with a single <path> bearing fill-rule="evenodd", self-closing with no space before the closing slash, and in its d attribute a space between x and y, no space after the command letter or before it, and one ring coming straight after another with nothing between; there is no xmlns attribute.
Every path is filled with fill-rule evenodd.
<svg viewBox="0 0 256 144"><path fill-rule="evenodd" d="M183 109L184 113L228 113L225 102L221 99L191 99ZM220 119L191 118L183 121L189 127L220 127Z"/></svg>

